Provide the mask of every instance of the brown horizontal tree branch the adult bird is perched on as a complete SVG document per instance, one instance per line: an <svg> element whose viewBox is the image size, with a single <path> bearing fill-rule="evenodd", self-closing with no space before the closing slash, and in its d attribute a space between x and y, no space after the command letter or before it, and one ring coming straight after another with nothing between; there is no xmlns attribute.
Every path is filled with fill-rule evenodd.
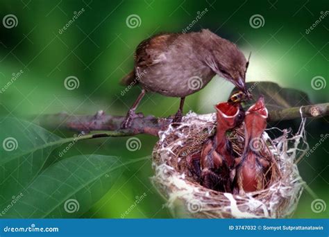
<svg viewBox="0 0 329 237"><path fill-rule="evenodd" d="M269 122L277 122L300 118L300 109L303 117L319 118L329 115L329 103L292 107L269 112ZM164 130L172 122L168 118L156 118L155 116L139 116L133 119L127 130L121 129L121 123L125 116L106 115L101 110L95 115L69 115L67 113L49 114L37 119L37 123L48 129L65 129L74 131L113 131L95 134L94 137L124 137L135 134L151 134L158 136L159 130Z"/></svg>

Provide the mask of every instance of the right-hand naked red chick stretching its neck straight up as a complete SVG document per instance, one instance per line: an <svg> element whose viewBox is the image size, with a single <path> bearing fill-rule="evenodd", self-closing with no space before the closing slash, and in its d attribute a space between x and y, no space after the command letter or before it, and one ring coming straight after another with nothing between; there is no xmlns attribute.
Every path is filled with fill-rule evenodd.
<svg viewBox="0 0 329 237"><path fill-rule="evenodd" d="M240 192L252 192L264 188L264 171L269 166L269 162L262 158L260 151L264 148L262 133L267 126L267 118L264 98L260 96L255 105L248 109L244 118L244 153L237 165L237 188Z"/></svg>

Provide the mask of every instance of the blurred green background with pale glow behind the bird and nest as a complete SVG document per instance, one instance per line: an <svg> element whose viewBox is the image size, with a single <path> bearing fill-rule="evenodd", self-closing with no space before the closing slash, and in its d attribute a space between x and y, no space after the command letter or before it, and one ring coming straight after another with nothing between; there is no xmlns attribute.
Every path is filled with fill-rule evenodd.
<svg viewBox="0 0 329 237"><path fill-rule="evenodd" d="M64 33L59 29L84 8L83 14ZM321 11L328 10L328 1L4 1L0 17L13 14L18 24L14 28L0 25L0 87L12 73L23 70L6 91L0 94L0 115L31 118L40 114L69 112L94 114L103 109L106 114L123 115L139 94L130 89L124 96L119 79L133 68L133 52L137 44L155 33L181 32L198 15L208 12L192 26L192 31L209 28L221 37L235 42L251 62L247 81L267 80L282 87L305 91L312 103L329 101L329 85L316 90L311 86L315 76L328 79L327 16L309 34L305 33ZM140 26L129 28L126 19L138 15ZM249 19L262 15L264 26L253 28ZM76 76L77 89L67 90L64 80ZM226 100L233 85L214 78L202 91L189 96L185 113L213 112L212 105ZM139 107L144 114L169 116L178 108L177 98L147 94ZM296 129L299 121L285 123ZM329 133L328 117L307 120L307 141L310 147ZM1 132L1 127L0 127ZM53 131L61 137L72 134ZM137 136L141 148L130 152L128 138L102 138L79 141L67 152L71 155L97 153L126 158L151 154L157 141L147 135ZM62 146L65 148L65 145ZM60 148L59 150L62 150ZM51 159L56 160L57 152ZM301 176L319 198L329 204L329 148L325 141L298 165ZM90 207L84 218L120 218L135 202L135 196L146 198L130 211L126 218L170 218L165 202L151 185L151 161L129 166L115 186ZM1 192L1 191L0 191ZM312 196L304 191L295 218L328 218L328 209L321 213L311 210Z"/></svg>

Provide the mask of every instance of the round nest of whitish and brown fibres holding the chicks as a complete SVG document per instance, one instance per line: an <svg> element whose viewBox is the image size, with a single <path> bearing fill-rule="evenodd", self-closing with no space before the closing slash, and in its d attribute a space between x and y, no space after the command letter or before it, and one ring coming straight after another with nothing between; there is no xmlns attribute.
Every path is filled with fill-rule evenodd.
<svg viewBox="0 0 329 237"><path fill-rule="evenodd" d="M271 159L264 189L235 195L202 186L189 171L186 156L199 152L203 142L214 134L215 114L190 112L180 125L170 125L160 132L153 150L151 178L167 207L176 217L192 218L288 218L296 209L303 191L303 180L295 164L298 146L305 142L304 123L297 134L280 130L282 135L271 139L264 132L265 154ZM274 128L270 128L274 129ZM244 148L244 125L230 133L233 149L241 155ZM307 144L307 143L306 143Z"/></svg>

